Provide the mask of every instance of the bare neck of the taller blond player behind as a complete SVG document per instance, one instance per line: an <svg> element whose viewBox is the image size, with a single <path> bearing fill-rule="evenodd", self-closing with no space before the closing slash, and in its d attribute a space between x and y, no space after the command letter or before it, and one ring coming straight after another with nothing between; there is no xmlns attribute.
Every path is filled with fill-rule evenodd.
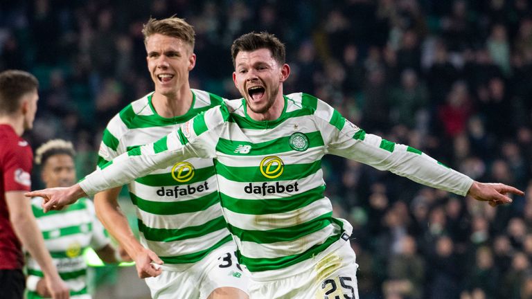
<svg viewBox="0 0 532 299"><path fill-rule="evenodd" d="M174 95L163 95L155 91L152 96L152 105L159 116L172 118L186 114L190 110L192 100L190 88L181 89Z"/></svg>

